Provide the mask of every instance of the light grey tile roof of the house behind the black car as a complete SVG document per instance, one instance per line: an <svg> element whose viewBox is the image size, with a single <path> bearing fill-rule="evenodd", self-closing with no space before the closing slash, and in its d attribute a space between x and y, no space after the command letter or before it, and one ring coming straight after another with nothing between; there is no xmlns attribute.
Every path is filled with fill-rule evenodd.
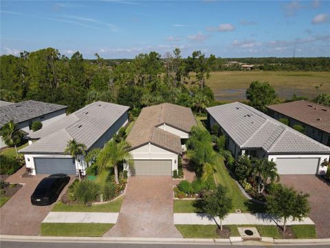
<svg viewBox="0 0 330 248"><path fill-rule="evenodd" d="M67 141L72 139L89 149L127 110L129 107L113 103L91 103L30 134L30 138L40 138L39 141L20 152L63 154Z"/></svg>

